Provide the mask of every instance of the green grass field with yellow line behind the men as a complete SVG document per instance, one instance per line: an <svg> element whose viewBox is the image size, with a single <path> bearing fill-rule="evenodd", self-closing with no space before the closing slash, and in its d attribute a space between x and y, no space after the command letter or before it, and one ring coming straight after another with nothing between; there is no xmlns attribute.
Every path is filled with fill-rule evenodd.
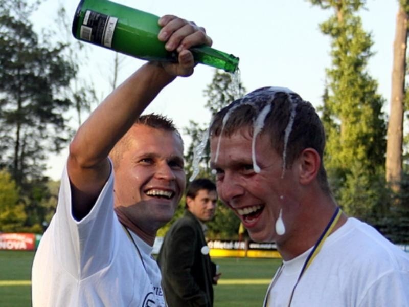
<svg viewBox="0 0 409 307"><path fill-rule="evenodd" d="M31 306L33 252L0 251L0 307ZM261 306L280 259L214 258L222 273L215 307Z"/></svg>

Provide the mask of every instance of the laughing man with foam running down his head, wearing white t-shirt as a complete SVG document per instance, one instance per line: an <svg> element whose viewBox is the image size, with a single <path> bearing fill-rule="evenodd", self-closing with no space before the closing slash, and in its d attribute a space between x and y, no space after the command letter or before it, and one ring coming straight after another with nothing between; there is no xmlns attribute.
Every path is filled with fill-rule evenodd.
<svg viewBox="0 0 409 307"><path fill-rule="evenodd" d="M409 257L334 201L309 102L263 87L218 112L209 133L220 199L283 257L264 306L409 306Z"/></svg>

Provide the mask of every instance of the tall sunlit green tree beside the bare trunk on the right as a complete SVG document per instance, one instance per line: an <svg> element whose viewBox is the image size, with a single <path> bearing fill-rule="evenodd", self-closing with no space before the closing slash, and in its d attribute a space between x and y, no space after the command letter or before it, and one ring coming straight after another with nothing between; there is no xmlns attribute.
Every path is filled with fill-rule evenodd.
<svg viewBox="0 0 409 307"><path fill-rule="evenodd" d="M372 212L373 199L362 199L360 193L378 186L384 167L386 129L381 111L384 100L377 94L377 82L367 72L373 41L356 15L365 1L310 1L334 10L320 25L321 31L331 37L332 48L323 106L323 121L328 128L325 164L337 201L349 214L366 219Z"/></svg>

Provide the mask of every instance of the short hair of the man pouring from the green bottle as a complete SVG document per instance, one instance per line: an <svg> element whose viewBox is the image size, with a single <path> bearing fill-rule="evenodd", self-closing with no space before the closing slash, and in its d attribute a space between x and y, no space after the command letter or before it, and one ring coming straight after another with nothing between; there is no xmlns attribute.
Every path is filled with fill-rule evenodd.
<svg viewBox="0 0 409 307"><path fill-rule="evenodd" d="M181 138L179 131L173 124L173 121L166 116L155 113L142 115L134 121L133 125L145 125L159 130L174 132L183 144L183 139ZM123 152L127 148L129 148L131 141L132 138L128 133L126 133L112 148L111 152L109 153L109 157L112 160L114 168L118 167L119 162L122 159Z"/></svg>

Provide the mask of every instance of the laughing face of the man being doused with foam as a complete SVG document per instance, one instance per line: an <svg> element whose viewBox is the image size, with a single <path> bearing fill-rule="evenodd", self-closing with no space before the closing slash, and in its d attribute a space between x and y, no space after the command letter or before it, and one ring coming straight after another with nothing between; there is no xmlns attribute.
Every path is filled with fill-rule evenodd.
<svg viewBox="0 0 409 307"><path fill-rule="evenodd" d="M220 151L215 162L219 137L212 137L211 165L216 169L216 186L220 199L239 216L249 235L256 242L282 242L291 235L292 221L299 202L296 199L297 163L286 169L282 178L282 157L271 147L270 139L262 134L256 140L256 161L260 172L253 169L252 136L248 127L231 136L221 137ZM275 223L283 210L286 234L279 236Z"/></svg>

